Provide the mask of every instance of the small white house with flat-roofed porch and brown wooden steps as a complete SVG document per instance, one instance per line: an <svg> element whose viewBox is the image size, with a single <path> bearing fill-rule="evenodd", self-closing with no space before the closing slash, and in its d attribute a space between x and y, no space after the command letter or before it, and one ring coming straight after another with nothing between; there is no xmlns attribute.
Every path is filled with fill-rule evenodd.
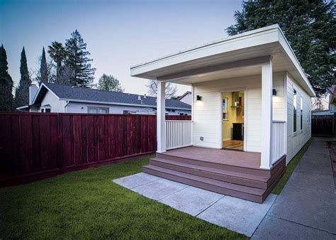
<svg viewBox="0 0 336 240"><path fill-rule="evenodd" d="M159 81L157 157L146 173L263 202L310 138L315 92L277 24L130 73ZM191 86L192 121L165 121L166 82Z"/></svg>

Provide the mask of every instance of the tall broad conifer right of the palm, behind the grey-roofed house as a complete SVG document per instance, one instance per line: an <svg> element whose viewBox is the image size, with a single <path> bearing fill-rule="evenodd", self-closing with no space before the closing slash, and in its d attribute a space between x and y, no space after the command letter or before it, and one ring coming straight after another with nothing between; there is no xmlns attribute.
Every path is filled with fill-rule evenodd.
<svg viewBox="0 0 336 240"><path fill-rule="evenodd" d="M92 59L89 58L90 53L86 50L86 43L79 31L71 33L71 37L65 43L65 49L67 50L65 64L74 70L70 84L87 87L94 80L96 68L91 68Z"/></svg>

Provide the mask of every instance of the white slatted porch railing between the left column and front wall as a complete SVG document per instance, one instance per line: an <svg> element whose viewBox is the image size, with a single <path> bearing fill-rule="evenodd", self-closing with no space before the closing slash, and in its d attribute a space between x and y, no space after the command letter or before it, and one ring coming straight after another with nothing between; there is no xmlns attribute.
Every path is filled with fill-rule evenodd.
<svg viewBox="0 0 336 240"><path fill-rule="evenodd" d="M191 146L192 121L166 120L166 149Z"/></svg>

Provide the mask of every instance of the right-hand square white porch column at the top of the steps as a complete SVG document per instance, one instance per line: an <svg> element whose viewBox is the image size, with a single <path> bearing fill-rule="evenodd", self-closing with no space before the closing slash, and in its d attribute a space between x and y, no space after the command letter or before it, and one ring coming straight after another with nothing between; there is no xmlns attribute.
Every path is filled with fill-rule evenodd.
<svg viewBox="0 0 336 240"><path fill-rule="evenodd" d="M262 159L260 168L271 169L272 62L262 64Z"/></svg>

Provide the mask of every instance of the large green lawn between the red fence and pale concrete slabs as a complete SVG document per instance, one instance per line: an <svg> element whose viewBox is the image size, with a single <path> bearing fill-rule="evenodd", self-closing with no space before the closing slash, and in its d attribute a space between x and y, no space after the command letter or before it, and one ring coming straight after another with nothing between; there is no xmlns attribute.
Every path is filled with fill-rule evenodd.
<svg viewBox="0 0 336 240"><path fill-rule="evenodd" d="M245 239L111 182L148 159L0 189L0 239Z"/></svg>

